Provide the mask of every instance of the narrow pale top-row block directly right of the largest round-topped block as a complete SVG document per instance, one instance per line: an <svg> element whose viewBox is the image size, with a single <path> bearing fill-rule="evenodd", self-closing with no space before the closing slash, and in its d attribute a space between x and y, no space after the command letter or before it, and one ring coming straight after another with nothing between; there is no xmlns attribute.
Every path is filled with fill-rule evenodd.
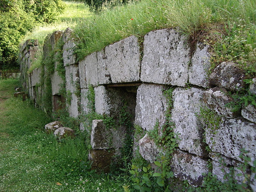
<svg viewBox="0 0 256 192"><path fill-rule="evenodd" d="M189 68L189 83L201 87L209 86L208 71L211 66L210 53L208 52L210 45L197 43L196 51L191 59Z"/></svg>

